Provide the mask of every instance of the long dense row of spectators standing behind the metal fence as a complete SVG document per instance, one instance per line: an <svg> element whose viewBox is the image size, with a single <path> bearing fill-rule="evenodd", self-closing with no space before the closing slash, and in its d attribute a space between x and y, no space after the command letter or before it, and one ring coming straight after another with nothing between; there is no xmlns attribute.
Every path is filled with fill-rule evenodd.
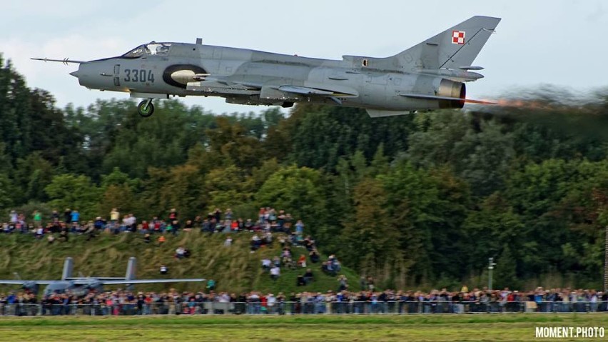
<svg viewBox="0 0 608 342"><path fill-rule="evenodd" d="M608 311L608 293L551 289L520 293L474 289L422 291L329 290L245 293L207 291L166 293L107 291L72 296L55 293L38 301L28 293L0 294L0 315L146 315L195 313L481 313Z"/></svg>

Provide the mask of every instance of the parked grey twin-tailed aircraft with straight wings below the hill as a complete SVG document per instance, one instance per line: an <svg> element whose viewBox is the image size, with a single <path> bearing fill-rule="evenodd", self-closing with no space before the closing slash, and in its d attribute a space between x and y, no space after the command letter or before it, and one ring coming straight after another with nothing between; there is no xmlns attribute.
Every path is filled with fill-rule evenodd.
<svg viewBox="0 0 608 342"><path fill-rule="evenodd" d="M82 296L88 291L103 291L103 285L120 285L126 284L132 286L138 283L179 283L183 281L205 281L205 279L136 279L136 258L132 256L128 259L127 271L124 278L108 278L108 277L72 277L74 261L72 258L66 258L64 261L64 271L61 273L61 280L46 281L46 280L0 280L0 284L21 285L28 291L38 293L40 285L46 285L44 296L49 296L52 293L64 293L70 291L76 296Z"/></svg>

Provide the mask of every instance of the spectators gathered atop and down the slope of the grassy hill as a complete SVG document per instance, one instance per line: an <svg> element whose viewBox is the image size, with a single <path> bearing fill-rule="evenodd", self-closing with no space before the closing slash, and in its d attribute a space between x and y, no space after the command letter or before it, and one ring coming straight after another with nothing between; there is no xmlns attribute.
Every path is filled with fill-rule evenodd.
<svg viewBox="0 0 608 342"><path fill-rule="evenodd" d="M177 235L180 231L193 229L199 229L203 233L249 231L253 233L250 238L251 253L255 253L260 248L273 248L275 244L273 239L278 236L280 255L275 256L273 263L268 263L268 265L264 263L265 271L268 271L270 278L275 281L280 277L281 269L285 267L305 269L303 275L298 276L298 286L305 286L314 281L311 264L318 264L320 271L330 276L337 276L341 270L340 261L334 255L331 255L327 261L321 261L315 240L310 235L304 234L303 221L295 221L290 213L284 210L277 211L270 207L260 208L258 218L254 221L252 218L235 218L235 214L230 208L225 211L216 208L207 216L197 216L186 220L183 225L176 208L171 208L165 218L154 216L149 221L138 221L133 213L121 216L118 208L113 208L109 213L109 218L106 220L97 217L95 221L81 221L78 210L66 208L63 215L60 215L57 210L53 210L44 226L43 217L39 211L34 211L31 221L26 220L23 213L11 211L9 222L4 223L3 231L5 233L32 233L36 238L46 236L49 243L54 243L56 236L59 236L59 241L69 241L71 234L86 234L88 239L91 239L104 231L113 234L140 232L143 234L145 243L152 243L156 240L159 245L166 242L167 236ZM155 238L154 235L158 237ZM228 235L224 246L232 246L232 242L233 239ZM293 248L304 248L305 251L301 251L296 257ZM188 258L191 256L191 251L179 246L173 256L177 259ZM344 279L343 282L345 283Z"/></svg>

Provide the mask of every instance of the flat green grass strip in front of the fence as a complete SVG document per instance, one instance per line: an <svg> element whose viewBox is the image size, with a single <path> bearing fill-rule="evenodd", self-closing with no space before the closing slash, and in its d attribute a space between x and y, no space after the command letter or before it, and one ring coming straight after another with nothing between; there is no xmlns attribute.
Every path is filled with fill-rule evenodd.
<svg viewBox="0 0 608 342"><path fill-rule="evenodd" d="M608 328L608 313L0 317L0 341L539 341L536 326Z"/></svg>

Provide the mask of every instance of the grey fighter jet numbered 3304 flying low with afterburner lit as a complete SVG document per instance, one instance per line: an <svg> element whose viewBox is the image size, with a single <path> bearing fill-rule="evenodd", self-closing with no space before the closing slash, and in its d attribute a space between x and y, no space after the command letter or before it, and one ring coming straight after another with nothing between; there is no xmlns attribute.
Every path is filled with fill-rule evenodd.
<svg viewBox="0 0 608 342"><path fill-rule="evenodd" d="M157 43L94 61L36 59L78 64L71 73L81 86L123 91L143 98L141 116L151 116L153 99L221 96L231 104L298 102L363 108L373 117L417 110L460 109L465 82L483 76L472 63L499 18L473 16L395 56L315 59L202 44Z"/></svg>

